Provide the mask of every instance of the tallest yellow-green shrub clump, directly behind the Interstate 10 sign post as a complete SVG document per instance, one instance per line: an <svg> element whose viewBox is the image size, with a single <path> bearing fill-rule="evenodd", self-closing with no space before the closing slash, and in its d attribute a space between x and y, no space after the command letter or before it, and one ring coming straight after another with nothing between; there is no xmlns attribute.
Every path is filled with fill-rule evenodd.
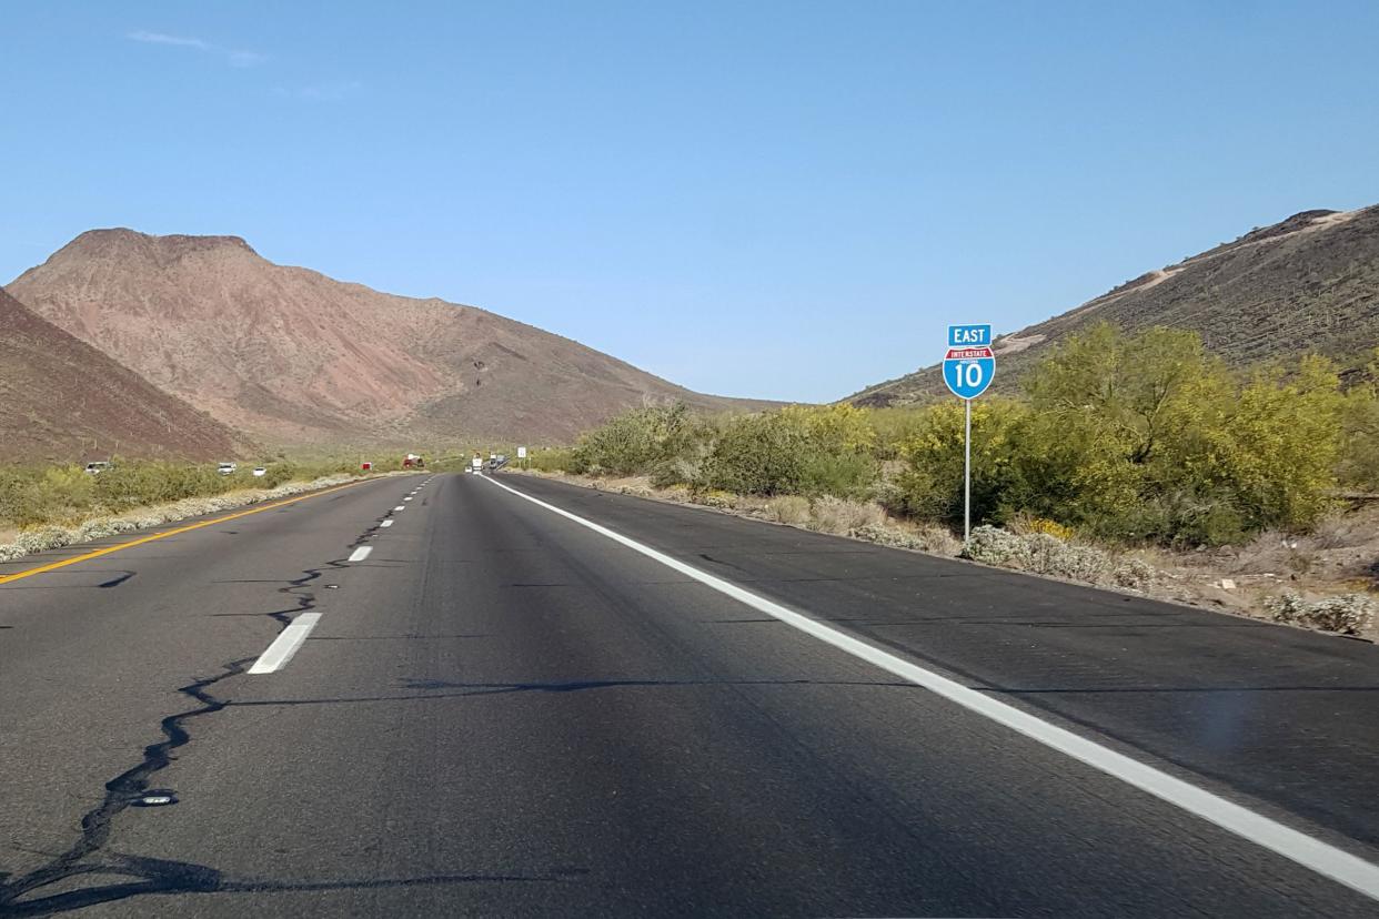
<svg viewBox="0 0 1379 919"><path fill-rule="evenodd" d="M1027 401L974 405L976 521L1222 544L1269 526L1307 529L1332 506L1343 400L1320 358L1241 380L1191 333L1125 338L1098 325L1040 361L1025 386ZM909 430L899 506L956 522L961 405L929 406Z"/></svg>

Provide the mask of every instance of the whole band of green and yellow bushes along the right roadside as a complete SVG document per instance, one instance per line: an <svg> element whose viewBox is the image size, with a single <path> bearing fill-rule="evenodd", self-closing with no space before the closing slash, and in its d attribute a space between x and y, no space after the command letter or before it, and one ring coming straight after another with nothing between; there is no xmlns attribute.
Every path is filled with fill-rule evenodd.
<svg viewBox="0 0 1379 919"><path fill-rule="evenodd" d="M1193 332L1127 336L1095 325L1041 358L1018 397L974 404L978 530L965 554L1147 588L1156 570L1146 558L1165 566L1190 553L1238 558L1260 543L1296 546L1335 530L1347 502L1379 492L1375 380L1379 354L1367 376L1343 384L1316 355L1242 373ZM963 517L963 406L720 417L645 406L571 448L536 451L530 467L946 553ZM1266 573L1298 580L1288 568ZM1350 584L1353 597L1314 615L1320 601L1289 594L1274 602L1274 617L1362 631L1373 580ZM1338 613L1338 602L1354 615Z"/></svg>

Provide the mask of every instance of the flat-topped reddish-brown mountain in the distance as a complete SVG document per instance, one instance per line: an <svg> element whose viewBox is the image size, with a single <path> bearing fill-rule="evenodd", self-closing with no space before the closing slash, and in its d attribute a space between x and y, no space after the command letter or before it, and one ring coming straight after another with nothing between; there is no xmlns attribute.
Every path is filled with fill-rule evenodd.
<svg viewBox="0 0 1379 919"><path fill-rule="evenodd" d="M10 284L48 321L273 442L567 441L645 400L727 411L473 306L274 265L233 236L91 230Z"/></svg>

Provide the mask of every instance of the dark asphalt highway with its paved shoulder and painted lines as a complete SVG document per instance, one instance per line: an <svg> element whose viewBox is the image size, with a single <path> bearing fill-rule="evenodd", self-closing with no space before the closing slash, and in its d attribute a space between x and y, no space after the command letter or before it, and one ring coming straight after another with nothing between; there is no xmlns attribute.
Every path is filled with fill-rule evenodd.
<svg viewBox="0 0 1379 919"><path fill-rule="evenodd" d="M0 565L0 916L1379 915L1373 645L512 474L256 510Z"/></svg>

